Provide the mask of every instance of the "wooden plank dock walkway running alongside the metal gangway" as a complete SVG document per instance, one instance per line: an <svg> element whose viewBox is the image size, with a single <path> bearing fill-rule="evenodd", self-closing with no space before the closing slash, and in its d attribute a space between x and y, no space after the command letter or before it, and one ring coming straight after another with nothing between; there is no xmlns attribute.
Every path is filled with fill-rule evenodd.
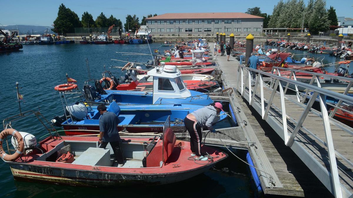
<svg viewBox="0 0 353 198"><path fill-rule="evenodd" d="M254 154L262 158L262 163L268 160L271 167L274 169L276 177L279 178L281 183L281 187L266 187L264 185L264 178L260 177L264 193L301 197L332 197L332 194L321 184L320 180L315 177L312 171L306 167L291 148L285 146L283 140L276 134L276 131L262 120L257 111L252 108L246 100L243 100L243 98L238 95L235 86L237 83L237 68L239 62L233 57L231 57L230 60L231 61L227 61L226 56L217 57L217 64L223 71L223 84L225 88L234 88L235 92L231 96L231 103L233 103L232 106L234 106L233 109L241 107L241 113L245 116L247 126L251 127L251 130L244 130L247 141L254 141L253 139L250 140L251 133L253 133L253 135L256 136L257 148L262 147L263 150L263 153L259 152L258 149L255 149L255 153L252 149L249 149L249 152L253 161L256 161ZM241 123L241 120L243 119L238 119L240 125L244 126L245 123ZM261 169L261 167L257 167ZM258 175L263 174L260 171L257 171L257 173Z"/></svg>

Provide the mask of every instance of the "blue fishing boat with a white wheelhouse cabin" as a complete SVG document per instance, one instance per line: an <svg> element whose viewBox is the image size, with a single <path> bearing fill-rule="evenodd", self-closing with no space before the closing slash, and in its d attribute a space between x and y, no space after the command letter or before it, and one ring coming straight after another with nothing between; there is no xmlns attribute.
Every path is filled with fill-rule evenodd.
<svg viewBox="0 0 353 198"><path fill-rule="evenodd" d="M124 68L122 70L125 70ZM130 72L130 71L128 71ZM150 70L147 75L153 76L153 90L151 92L142 91L119 91L119 90L102 90L102 86L89 86L85 82L83 94L90 104L99 102L111 103L116 101L119 105L132 104L197 104L206 106L213 103L208 93L192 91L185 87L185 83L181 78L181 73L175 66L166 65L164 67L156 67ZM132 78L136 76L134 70L131 71ZM109 83L124 83L129 79L126 74L119 78L109 80ZM102 78L104 79L104 78ZM104 80L101 81L103 83ZM106 82L104 82L106 83ZM117 86L115 85L115 86ZM111 84L107 87L114 87ZM201 89L200 89L201 90ZM207 91L208 92L208 91Z"/></svg>

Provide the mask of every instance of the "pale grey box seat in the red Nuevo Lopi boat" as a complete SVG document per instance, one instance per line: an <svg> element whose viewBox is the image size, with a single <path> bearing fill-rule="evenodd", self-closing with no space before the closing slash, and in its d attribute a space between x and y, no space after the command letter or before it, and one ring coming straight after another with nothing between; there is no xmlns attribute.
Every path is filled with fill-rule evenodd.
<svg viewBox="0 0 353 198"><path fill-rule="evenodd" d="M110 166L110 149L90 147L78 156L72 164Z"/></svg>

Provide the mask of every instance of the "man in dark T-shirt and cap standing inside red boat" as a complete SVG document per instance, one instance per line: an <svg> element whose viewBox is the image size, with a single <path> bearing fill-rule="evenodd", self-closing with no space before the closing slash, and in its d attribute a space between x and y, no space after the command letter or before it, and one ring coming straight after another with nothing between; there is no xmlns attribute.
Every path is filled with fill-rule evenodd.
<svg viewBox="0 0 353 198"><path fill-rule="evenodd" d="M119 131L118 128L116 128L120 120L115 113L108 112L104 104L98 105L97 110L102 115L99 118L98 148L106 148L107 144L110 143L114 151L115 160L119 163L119 166L124 166L124 157L122 156L119 146Z"/></svg>

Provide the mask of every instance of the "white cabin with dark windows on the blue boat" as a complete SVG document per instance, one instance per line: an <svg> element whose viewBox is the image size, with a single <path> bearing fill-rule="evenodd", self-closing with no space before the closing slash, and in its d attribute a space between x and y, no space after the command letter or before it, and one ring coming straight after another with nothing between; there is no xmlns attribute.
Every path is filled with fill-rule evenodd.
<svg viewBox="0 0 353 198"><path fill-rule="evenodd" d="M174 65L156 67L147 75L153 76L153 104L159 98L187 98L191 97L189 89L185 87L181 73Z"/></svg>

